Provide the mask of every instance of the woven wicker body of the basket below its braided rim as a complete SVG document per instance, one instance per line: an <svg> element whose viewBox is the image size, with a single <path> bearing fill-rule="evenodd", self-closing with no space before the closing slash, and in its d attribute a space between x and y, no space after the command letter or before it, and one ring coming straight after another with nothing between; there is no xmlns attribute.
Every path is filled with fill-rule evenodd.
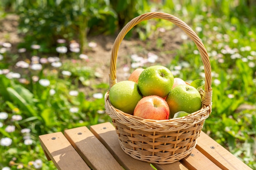
<svg viewBox="0 0 256 170"><path fill-rule="evenodd" d="M119 144L127 155L140 161L168 164L191 154L203 128L204 120L193 127L171 132L133 129L112 120L119 138Z"/></svg>

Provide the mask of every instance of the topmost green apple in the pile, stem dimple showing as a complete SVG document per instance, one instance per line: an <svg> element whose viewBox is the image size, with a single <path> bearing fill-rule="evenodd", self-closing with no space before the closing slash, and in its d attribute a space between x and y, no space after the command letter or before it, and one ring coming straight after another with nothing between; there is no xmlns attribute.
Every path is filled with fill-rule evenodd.
<svg viewBox="0 0 256 170"><path fill-rule="evenodd" d="M139 91L143 96L166 97L173 87L174 77L164 66L150 66L139 75Z"/></svg>

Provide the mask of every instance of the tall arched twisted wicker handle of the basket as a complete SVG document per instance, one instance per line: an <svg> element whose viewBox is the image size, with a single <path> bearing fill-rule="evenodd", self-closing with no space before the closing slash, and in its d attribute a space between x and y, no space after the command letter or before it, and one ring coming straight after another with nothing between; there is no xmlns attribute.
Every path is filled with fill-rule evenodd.
<svg viewBox="0 0 256 170"><path fill-rule="evenodd" d="M142 15L133 18L130 22L124 26L124 28L117 35L117 38L113 44L112 52L111 52L111 60L110 60L110 74L109 74L109 85L110 88L117 83L117 52L121 41L124 39L125 35L132 29L135 25L139 24L142 21L150 20L153 18L164 19L172 22L173 24L179 26L189 37L193 40L195 45L197 46L202 62L204 64L204 74L205 74L205 85L204 85L204 94L202 97L202 104L205 106L211 107L211 99L212 99L212 88L211 88L211 64L209 60L208 53L204 47L204 44L198 37L198 35L182 20L179 18L162 12L149 12L144 13Z"/></svg>

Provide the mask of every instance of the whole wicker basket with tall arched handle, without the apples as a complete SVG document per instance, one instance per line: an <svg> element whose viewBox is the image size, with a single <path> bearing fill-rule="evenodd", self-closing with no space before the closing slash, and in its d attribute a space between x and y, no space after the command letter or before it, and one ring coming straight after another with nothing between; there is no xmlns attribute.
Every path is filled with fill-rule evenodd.
<svg viewBox="0 0 256 170"><path fill-rule="evenodd" d="M132 19L117 36L110 61L110 88L117 83L116 61L121 41L133 26L144 20L160 18L179 26L194 41L204 64L205 88L202 90L202 108L189 116L151 120L135 117L110 104L109 91L105 95L106 113L112 118L121 148L135 159L150 163L167 164L179 161L191 153L200 136L204 120L211 113L211 64L207 51L198 35L182 20L173 15L160 12L144 13Z"/></svg>

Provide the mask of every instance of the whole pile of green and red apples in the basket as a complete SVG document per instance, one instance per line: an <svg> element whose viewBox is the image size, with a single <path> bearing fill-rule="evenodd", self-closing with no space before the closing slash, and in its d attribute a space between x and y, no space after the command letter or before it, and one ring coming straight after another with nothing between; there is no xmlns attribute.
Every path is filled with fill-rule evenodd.
<svg viewBox="0 0 256 170"><path fill-rule="evenodd" d="M190 85L173 77L164 66L137 68L128 80L118 82L109 91L112 106L144 119L164 120L183 117L200 110L199 93L204 80Z"/></svg>

